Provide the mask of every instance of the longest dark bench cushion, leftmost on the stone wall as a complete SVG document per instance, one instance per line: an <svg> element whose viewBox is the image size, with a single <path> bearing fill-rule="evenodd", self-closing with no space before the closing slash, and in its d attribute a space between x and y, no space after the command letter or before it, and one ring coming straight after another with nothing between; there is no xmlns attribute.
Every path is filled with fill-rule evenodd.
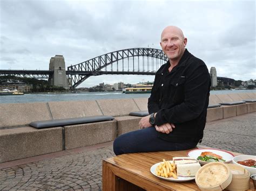
<svg viewBox="0 0 256 191"><path fill-rule="evenodd" d="M75 125L81 123L92 123L92 122L102 122L102 121L110 121L114 118L112 116L91 116L91 117L76 117L76 118L68 118L68 119L52 119L46 121L36 121L31 122L29 125L34 128L51 128L53 126L64 126L64 125Z"/></svg>

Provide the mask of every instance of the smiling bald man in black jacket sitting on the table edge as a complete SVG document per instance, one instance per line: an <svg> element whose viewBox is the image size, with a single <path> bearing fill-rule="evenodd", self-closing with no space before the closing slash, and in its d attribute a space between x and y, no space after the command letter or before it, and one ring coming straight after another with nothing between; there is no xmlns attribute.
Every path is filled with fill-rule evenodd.
<svg viewBox="0 0 256 191"><path fill-rule="evenodd" d="M116 155L179 151L203 139L211 80L204 61L185 48L187 38L177 26L161 33L160 46L169 59L156 73L140 130L114 140Z"/></svg>

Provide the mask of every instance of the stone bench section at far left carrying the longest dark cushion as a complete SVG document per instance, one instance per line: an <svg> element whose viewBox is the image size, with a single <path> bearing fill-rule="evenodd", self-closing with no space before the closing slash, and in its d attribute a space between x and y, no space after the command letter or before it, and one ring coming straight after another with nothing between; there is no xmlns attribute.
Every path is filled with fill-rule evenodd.
<svg viewBox="0 0 256 191"><path fill-rule="evenodd" d="M91 115L109 117L96 101L1 104L0 162L114 140L117 122Z"/></svg>

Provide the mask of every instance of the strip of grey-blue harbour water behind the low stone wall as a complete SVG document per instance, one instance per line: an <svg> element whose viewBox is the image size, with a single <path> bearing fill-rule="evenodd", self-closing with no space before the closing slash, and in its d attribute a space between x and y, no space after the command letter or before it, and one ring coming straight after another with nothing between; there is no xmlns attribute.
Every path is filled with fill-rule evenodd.
<svg viewBox="0 0 256 191"><path fill-rule="evenodd" d="M256 93L254 90L214 90L211 94L236 94L236 93ZM86 92L86 93L45 93L45 94L24 94L0 96L0 103L28 103L28 102L56 102L75 100L106 100L149 97L150 94L122 94L116 92Z"/></svg>

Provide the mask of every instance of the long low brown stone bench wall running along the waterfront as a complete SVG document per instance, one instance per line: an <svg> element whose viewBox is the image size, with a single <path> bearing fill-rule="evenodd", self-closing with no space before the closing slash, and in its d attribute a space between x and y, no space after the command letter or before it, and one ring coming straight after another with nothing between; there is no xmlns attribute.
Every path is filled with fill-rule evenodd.
<svg viewBox="0 0 256 191"><path fill-rule="evenodd" d="M256 99L255 93L211 95L210 104ZM0 104L0 163L69 150L114 140L139 129L141 117L132 111L147 110L147 98ZM256 103L207 110L207 122L256 111ZM109 115L114 121L35 129L33 121Z"/></svg>

